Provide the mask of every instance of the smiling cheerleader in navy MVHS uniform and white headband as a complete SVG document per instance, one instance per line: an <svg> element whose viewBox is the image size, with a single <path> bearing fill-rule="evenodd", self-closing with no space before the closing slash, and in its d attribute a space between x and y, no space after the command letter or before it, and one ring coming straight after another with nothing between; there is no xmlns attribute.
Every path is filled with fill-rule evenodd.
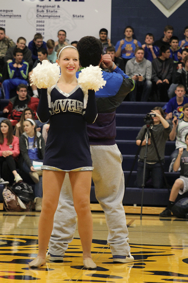
<svg viewBox="0 0 188 283"><path fill-rule="evenodd" d="M97 118L95 91L84 93L78 86L76 71L79 54L66 46L57 53L61 75L57 84L41 89L37 114L41 122L50 119L43 162L43 201L39 218L39 252L30 267L44 265L53 229L54 214L66 172L72 186L78 232L87 269L97 266L91 258L93 222L90 209L91 173L93 170L86 122ZM63 217L63 215L62 215Z"/></svg>

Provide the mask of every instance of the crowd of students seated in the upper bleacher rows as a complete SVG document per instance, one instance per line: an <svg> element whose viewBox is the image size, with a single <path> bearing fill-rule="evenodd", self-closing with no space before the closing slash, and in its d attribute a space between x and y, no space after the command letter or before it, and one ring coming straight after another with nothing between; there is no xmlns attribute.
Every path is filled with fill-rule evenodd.
<svg viewBox="0 0 188 283"><path fill-rule="evenodd" d="M136 87L129 94L128 100L167 102L175 96L175 88L179 83L184 85L185 92L188 94L188 80L186 80L188 26L184 29L184 39L179 40L173 35L173 31L171 25L166 25L163 37L154 41L154 35L147 33L145 42L142 44L134 38L133 27L127 26L124 29L125 38L119 40L114 46L108 38L107 29L102 28L99 31L102 54L110 54L112 61L135 82ZM58 48L69 44L65 30L58 31L56 42L53 39L44 42L42 35L36 33L28 47L24 37L19 37L17 43L14 43L6 36L3 28L0 28L0 33L2 34L0 35L2 97L7 99L10 97L11 90L15 89L19 83L25 83L24 80L31 83L32 69L39 62L46 59L55 63ZM75 47L76 44L77 41L71 42L71 45ZM131 62L128 62L129 60ZM147 95L143 95L145 92ZM32 85L33 95L39 97L39 92L34 85Z"/></svg>

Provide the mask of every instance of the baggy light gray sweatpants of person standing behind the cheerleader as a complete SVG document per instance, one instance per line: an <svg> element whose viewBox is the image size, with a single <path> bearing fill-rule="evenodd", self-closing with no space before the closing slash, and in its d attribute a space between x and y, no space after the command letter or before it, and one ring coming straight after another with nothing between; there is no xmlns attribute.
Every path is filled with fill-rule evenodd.
<svg viewBox="0 0 188 283"><path fill-rule="evenodd" d="M112 255L127 256L130 252L128 229L122 200L125 183L122 170L122 155L118 146L90 146L94 170L92 179L95 194L104 210L108 227L107 242ZM49 242L50 254L63 256L76 230L76 212L72 189L66 174L61 189L54 227Z"/></svg>

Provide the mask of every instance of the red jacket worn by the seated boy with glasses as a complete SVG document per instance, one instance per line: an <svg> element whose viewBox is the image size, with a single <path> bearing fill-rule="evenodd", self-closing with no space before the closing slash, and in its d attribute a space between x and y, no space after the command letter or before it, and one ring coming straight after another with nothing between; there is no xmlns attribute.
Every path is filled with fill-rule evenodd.
<svg viewBox="0 0 188 283"><path fill-rule="evenodd" d="M6 107L4 107L4 109L8 109L8 111L9 111L7 118L10 119L10 120L15 120L16 123L17 123L20 120L22 112L17 111L16 109L13 109L13 105L14 105L16 98L17 98L17 96L14 96L13 98L11 98L9 100L8 105ZM29 99L28 107L33 110L34 119L37 120L38 117L36 115L36 111L37 111L37 107L38 107L38 104L39 104L39 98L31 97L29 94L27 94L27 98ZM12 123L12 124L16 125L16 123Z"/></svg>

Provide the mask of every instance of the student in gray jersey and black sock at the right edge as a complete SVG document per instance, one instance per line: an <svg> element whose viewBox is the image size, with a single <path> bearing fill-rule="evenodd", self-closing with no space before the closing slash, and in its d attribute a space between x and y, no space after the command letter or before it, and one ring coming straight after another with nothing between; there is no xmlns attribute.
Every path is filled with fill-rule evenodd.
<svg viewBox="0 0 188 283"><path fill-rule="evenodd" d="M171 209L178 196L178 193L183 195L188 191L188 133L185 135L185 144L187 146L186 149L183 149L183 147L179 148L178 156L173 165L175 172L178 171L179 167L181 167L180 178L176 179L174 185L172 186L168 206L159 214L161 217L172 216Z"/></svg>

